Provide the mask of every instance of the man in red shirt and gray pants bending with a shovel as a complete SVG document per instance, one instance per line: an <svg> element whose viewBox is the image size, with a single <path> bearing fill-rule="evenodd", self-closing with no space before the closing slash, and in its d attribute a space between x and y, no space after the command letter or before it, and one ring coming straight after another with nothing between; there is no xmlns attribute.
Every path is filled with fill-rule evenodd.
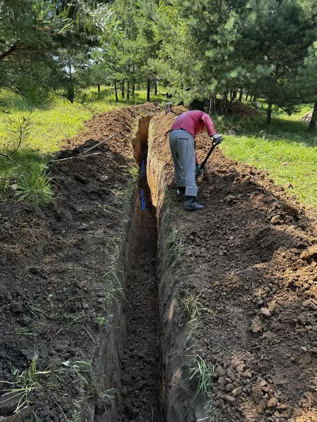
<svg viewBox="0 0 317 422"><path fill-rule="evenodd" d="M177 117L169 133L169 146L174 162L174 175L178 192L185 199L185 210L197 211L204 208L197 202L196 175L203 174L195 152L196 135L205 132L214 142L220 143L211 117L203 111L186 111Z"/></svg>

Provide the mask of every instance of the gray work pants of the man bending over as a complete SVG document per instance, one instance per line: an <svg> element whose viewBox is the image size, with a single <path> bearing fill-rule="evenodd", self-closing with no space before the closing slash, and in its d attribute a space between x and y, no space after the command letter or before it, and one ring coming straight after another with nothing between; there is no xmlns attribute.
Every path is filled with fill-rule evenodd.
<svg viewBox="0 0 317 422"><path fill-rule="evenodd" d="M197 196L195 140L184 129L174 129L169 133L169 146L174 162L176 184L185 187L185 195Z"/></svg>

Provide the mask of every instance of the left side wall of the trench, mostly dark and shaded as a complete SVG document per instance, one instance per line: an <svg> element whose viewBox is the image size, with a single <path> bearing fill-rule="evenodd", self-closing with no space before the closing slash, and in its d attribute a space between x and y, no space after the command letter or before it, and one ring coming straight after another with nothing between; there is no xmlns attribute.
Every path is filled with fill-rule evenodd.
<svg viewBox="0 0 317 422"><path fill-rule="evenodd" d="M137 125L136 135L132 139L134 158L137 163L142 159L142 151L147 147L148 130L152 115L140 117ZM126 236L122 239L122 248L118 258L118 277L121 286L125 286L127 274L136 258L137 238L141 228L141 205L138 184L131 191L130 206L127 211L128 223L126 224ZM120 408L124 398L121 388L121 362L125 345L126 321L124 316L125 307L124 296L117 297L117 302L113 304L110 313L117 315L112 322L112 327L105 336L100 336L94 356L94 367L96 372L95 385L100 391L106 391L115 387L117 390L112 394L113 400L107 406L106 412L104 402L98 403L96 399L91 399L88 408L91 409L91 422L121 422ZM102 376L101 376L102 375Z"/></svg>

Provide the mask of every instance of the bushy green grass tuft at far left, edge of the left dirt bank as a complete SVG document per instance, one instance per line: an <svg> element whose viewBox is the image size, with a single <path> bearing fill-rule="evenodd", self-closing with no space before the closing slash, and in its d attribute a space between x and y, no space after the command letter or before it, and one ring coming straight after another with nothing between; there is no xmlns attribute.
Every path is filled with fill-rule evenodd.
<svg viewBox="0 0 317 422"><path fill-rule="evenodd" d="M16 194L19 195L19 201L28 202L33 206L52 202L53 191L45 168L41 165L29 165L17 184Z"/></svg>

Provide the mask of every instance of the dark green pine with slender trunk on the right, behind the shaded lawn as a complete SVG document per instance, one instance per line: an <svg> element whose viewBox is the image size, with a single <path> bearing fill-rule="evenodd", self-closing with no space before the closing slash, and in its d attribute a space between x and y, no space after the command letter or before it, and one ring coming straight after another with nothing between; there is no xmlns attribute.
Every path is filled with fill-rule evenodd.
<svg viewBox="0 0 317 422"><path fill-rule="evenodd" d="M295 0L251 0L249 7L238 52L249 63L252 93L266 98L269 124L273 104L290 110L297 101L291 84L315 25Z"/></svg>

